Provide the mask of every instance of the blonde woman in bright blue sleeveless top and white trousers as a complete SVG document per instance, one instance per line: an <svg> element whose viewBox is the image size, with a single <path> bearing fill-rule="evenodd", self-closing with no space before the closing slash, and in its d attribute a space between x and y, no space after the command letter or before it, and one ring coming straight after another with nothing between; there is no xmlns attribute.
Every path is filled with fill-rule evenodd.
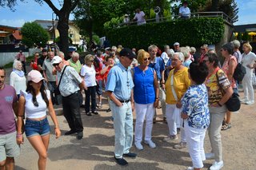
<svg viewBox="0 0 256 170"><path fill-rule="evenodd" d="M138 51L138 65L133 69L134 77L134 101L136 110L135 146L142 150L143 123L146 118L144 143L150 148L155 148L151 140L153 117L155 108L158 107L159 89L158 78L154 69L150 68L150 53L140 49Z"/></svg>

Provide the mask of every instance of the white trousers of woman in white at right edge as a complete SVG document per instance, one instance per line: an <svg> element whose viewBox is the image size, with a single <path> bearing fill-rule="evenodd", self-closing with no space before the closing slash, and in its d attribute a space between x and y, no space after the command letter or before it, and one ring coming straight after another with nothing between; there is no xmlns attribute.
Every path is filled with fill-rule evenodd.
<svg viewBox="0 0 256 170"><path fill-rule="evenodd" d="M246 69L247 71L248 69ZM253 73L246 73L245 77L242 79L242 89L245 94L246 101L254 101L254 87L253 87Z"/></svg>

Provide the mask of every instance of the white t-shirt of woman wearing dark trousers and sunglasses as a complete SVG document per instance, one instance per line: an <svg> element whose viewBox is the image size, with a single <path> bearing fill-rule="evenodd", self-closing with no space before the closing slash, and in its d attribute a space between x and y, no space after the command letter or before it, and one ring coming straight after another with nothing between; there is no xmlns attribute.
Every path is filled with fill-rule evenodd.
<svg viewBox="0 0 256 170"><path fill-rule="evenodd" d="M92 87L96 85L96 71L94 69L94 65L91 65L91 67L82 65L81 76L84 77L86 87Z"/></svg>

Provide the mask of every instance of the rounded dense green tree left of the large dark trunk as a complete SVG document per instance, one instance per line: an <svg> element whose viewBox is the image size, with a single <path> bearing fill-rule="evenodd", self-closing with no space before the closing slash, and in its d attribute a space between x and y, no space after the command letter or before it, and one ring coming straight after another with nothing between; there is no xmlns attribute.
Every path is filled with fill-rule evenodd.
<svg viewBox="0 0 256 170"><path fill-rule="evenodd" d="M35 45L46 45L49 34L36 22L26 22L22 26L22 42L28 47Z"/></svg>

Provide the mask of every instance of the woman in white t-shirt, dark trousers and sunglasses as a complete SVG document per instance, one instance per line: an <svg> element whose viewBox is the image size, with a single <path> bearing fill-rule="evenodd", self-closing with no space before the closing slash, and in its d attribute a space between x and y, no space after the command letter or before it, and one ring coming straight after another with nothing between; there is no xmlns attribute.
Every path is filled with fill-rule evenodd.
<svg viewBox="0 0 256 170"><path fill-rule="evenodd" d="M91 113L98 114L96 111L96 71L94 69L94 56L86 55L85 65L82 66L81 76L85 81L86 89L86 115L91 116ZM90 113L91 100L91 113Z"/></svg>

